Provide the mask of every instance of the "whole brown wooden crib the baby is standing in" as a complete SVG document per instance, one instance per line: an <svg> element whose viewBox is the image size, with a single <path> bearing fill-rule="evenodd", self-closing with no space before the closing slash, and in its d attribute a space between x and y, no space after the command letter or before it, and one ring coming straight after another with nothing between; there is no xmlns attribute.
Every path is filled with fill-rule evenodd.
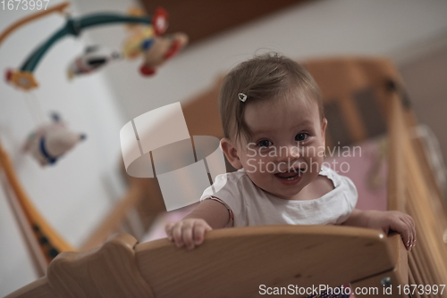
<svg viewBox="0 0 447 298"><path fill-rule="evenodd" d="M447 208L423 145L411 137L416 120L392 63L333 58L305 65L324 96L327 144L351 145L387 131L388 210L415 219L417 245L411 252L397 234L350 227L213 230L193 251L167 239L138 244L118 234L88 252L59 254L46 277L7 297L255 297L268 288L299 291L346 282L363 291L356 296L447 297L441 286L447 282ZM220 82L183 104L191 136L222 137Z"/></svg>

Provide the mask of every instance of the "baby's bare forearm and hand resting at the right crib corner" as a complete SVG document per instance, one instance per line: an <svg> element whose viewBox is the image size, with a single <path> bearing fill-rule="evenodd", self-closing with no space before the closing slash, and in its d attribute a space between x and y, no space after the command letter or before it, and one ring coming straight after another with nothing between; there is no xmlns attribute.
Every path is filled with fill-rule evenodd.
<svg viewBox="0 0 447 298"><path fill-rule="evenodd" d="M380 229L385 234L388 234L390 230L396 231L401 234L403 244L408 250L411 250L416 242L414 219L400 211L359 211L354 209L342 225Z"/></svg>

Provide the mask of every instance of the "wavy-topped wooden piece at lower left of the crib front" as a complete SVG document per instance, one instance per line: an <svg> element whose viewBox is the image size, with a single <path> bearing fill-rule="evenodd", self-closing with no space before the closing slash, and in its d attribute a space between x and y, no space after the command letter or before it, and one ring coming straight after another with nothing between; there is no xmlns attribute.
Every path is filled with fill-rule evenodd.
<svg viewBox="0 0 447 298"><path fill-rule="evenodd" d="M88 252L62 252L48 266L46 277L7 297L154 298L150 286L139 274L136 244L131 235L115 234L101 247Z"/></svg>

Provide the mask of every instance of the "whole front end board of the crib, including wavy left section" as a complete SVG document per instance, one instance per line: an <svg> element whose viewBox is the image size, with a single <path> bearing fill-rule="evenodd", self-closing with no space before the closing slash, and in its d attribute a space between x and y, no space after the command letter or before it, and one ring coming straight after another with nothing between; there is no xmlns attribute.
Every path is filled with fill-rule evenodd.
<svg viewBox="0 0 447 298"><path fill-rule="evenodd" d="M255 297L261 285L340 286L392 275L394 239L365 228L262 226L213 230L186 251L119 234L89 252L61 253L46 277L6 297ZM380 280L369 286L382 291Z"/></svg>

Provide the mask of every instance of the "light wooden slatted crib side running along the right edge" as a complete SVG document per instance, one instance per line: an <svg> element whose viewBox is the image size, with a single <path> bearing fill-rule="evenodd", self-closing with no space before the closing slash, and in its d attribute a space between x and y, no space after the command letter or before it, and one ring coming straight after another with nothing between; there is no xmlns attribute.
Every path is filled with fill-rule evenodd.
<svg viewBox="0 0 447 298"><path fill-rule="evenodd" d="M408 213L415 219L417 246L408 255L409 277L405 283L417 286L445 285L447 281L447 216L441 192L436 187L433 172L426 164L418 139L410 129L416 121L401 103L401 90L392 92L388 108L389 125L389 185L388 210ZM418 150L419 149L419 150ZM418 154L417 154L418 153ZM432 181L433 182L433 181ZM432 188L432 189L431 189ZM397 258L407 259L407 252L398 250ZM447 293L415 297L447 297Z"/></svg>

